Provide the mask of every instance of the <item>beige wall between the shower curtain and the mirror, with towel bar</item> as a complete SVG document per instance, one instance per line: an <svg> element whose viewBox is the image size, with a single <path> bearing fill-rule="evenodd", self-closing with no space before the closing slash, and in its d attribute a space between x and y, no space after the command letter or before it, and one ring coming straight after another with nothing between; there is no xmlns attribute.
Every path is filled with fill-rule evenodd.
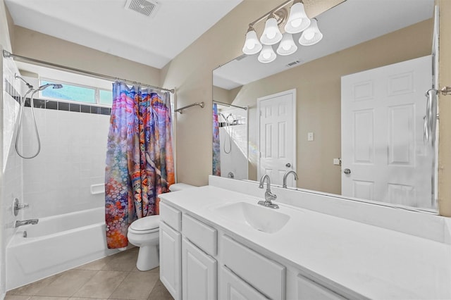
<svg viewBox="0 0 451 300"><path fill-rule="evenodd" d="M258 4L258 5L256 5ZM176 87L176 107L205 101L177 115L177 177L191 185L207 185L211 174L211 71L241 55L247 25L270 11L274 0L245 0L199 37L161 72L161 85Z"/></svg>

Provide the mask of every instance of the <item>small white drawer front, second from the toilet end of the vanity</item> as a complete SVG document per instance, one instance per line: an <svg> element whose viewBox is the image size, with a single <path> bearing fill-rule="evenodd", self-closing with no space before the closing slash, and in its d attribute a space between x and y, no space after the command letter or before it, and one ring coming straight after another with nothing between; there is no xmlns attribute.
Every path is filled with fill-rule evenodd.
<svg viewBox="0 0 451 300"><path fill-rule="evenodd" d="M216 256L218 234L216 229L190 215L183 214L183 235L207 254Z"/></svg>

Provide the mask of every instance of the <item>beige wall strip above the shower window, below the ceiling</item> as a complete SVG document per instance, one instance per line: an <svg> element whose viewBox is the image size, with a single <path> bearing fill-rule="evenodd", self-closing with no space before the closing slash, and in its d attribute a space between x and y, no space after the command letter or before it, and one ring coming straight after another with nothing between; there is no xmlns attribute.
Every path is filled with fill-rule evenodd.
<svg viewBox="0 0 451 300"><path fill-rule="evenodd" d="M160 70L40 32L14 26L13 54L160 86Z"/></svg>

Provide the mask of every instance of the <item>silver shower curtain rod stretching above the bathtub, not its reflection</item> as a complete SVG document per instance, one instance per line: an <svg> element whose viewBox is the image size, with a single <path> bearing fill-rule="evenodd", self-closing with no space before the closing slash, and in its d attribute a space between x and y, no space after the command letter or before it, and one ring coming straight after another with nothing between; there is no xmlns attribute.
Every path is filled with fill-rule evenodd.
<svg viewBox="0 0 451 300"><path fill-rule="evenodd" d="M32 62L32 63L36 63L38 65L51 66L51 67L59 69L59 70L71 70L71 71L73 71L75 73L91 75L93 77L97 77L97 78L100 78L100 79L113 80L113 81L121 80L121 81L126 82L126 83L128 83L130 85L141 85L142 87L150 87L152 89L159 89L161 91L171 92L172 94L174 94L174 92L175 92L175 89L165 89L163 87L155 87L154 85L147 85L147 84L144 84L144 83L141 83L141 82L121 79L121 78L118 78L118 77L113 77L113 76L109 76L109 75L89 72L89 71L86 71L86 70L80 70L78 68L72 68L72 67L68 67L66 65L58 65L56 63L49 63L47 61L39 61L38 59L35 59L35 58L29 58L29 57L20 56L20 55L17 55L17 54L12 54L11 52L8 52L6 50L3 51L3 56L4 56L4 58L9 58L9 57L12 57L14 59L17 58L18 61L23 61L23 62L29 61L29 62Z"/></svg>

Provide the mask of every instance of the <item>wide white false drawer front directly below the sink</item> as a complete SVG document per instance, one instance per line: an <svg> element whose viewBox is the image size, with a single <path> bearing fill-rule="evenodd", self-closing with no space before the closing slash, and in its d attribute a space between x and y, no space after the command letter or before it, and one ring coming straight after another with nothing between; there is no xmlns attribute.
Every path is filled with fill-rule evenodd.
<svg viewBox="0 0 451 300"><path fill-rule="evenodd" d="M223 236L223 263L271 299L285 299L285 267Z"/></svg>

